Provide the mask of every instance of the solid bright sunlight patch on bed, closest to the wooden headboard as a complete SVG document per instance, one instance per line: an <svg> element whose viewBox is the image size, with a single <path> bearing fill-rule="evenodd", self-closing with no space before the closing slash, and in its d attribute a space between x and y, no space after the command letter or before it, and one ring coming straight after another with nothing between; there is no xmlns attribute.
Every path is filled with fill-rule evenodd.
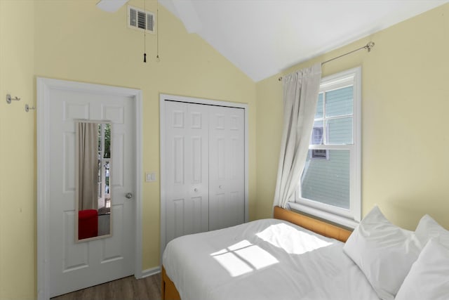
<svg viewBox="0 0 449 300"><path fill-rule="evenodd" d="M333 244L288 226L286 223L269 226L256 235L275 247L284 249L288 254L304 254Z"/></svg>

